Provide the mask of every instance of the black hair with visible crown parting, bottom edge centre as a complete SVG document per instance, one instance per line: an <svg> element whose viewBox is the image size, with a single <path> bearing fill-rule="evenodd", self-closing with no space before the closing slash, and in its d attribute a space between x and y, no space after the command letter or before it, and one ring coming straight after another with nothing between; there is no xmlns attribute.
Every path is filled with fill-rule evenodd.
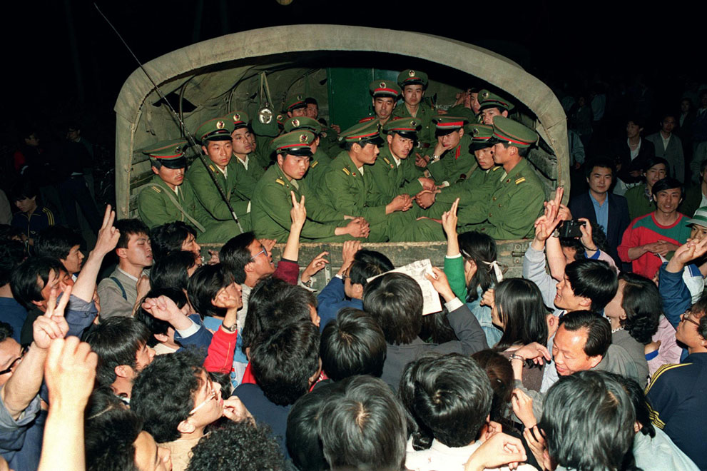
<svg viewBox="0 0 707 471"><path fill-rule="evenodd" d="M322 408L319 432L332 470L401 470L405 463L405 412L378 378L354 376L343 396Z"/></svg>

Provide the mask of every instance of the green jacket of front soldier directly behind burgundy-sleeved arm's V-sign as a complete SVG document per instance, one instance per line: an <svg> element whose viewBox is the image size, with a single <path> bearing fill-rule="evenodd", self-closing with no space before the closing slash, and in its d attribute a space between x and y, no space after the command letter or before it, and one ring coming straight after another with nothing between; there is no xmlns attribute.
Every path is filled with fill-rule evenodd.
<svg viewBox="0 0 707 471"><path fill-rule="evenodd" d="M265 175L255 186L253 200L251 200L253 204L250 221L256 237L275 239L278 242L285 242L288 239L290 226L292 226L290 191L295 192L297 201L302 198L302 195L305 196L307 222L302 228L300 238L310 240L332 238L335 237L336 228L345 225L347 221L344 221L344 213L322 204L304 180L297 181L297 187L288 181L279 166L273 165L265 171Z"/></svg>

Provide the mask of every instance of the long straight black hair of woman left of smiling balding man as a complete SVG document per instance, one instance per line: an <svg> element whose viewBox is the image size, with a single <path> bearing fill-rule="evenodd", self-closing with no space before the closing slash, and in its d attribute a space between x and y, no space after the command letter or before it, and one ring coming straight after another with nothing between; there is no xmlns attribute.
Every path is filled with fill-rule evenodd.
<svg viewBox="0 0 707 471"><path fill-rule="evenodd" d="M496 350L512 345L547 343L547 310L535 283L525 278L507 278L494 290L494 302L505 327Z"/></svg>

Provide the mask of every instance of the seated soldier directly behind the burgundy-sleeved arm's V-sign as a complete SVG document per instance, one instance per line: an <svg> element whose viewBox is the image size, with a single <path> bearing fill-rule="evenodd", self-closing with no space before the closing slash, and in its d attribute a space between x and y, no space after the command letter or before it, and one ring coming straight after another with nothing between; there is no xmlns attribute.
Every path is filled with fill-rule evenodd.
<svg viewBox="0 0 707 471"><path fill-rule="evenodd" d="M287 240L292 225L291 193L297 201L304 198L307 210L307 222L300 234L302 240L337 242L368 236L369 227L365 220L346 216L322 204L302 180L310 165L310 146L314 140L315 135L310 131L298 130L273 141L278 162L265 171L253 194L250 219L256 237L278 242Z"/></svg>

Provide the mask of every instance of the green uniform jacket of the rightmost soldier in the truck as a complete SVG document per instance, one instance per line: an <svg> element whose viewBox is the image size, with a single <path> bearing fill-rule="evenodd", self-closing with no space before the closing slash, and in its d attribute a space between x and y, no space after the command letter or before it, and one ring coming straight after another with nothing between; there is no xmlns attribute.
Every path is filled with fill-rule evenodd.
<svg viewBox="0 0 707 471"><path fill-rule="evenodd" d="M491 181L498 173L492 173ZM532 237L534 222L543 209L545 191L531 164L522 158L496 185L487 201L465 208L464 220L474 223L466 229L482 231L497 240Z"/></svg>

